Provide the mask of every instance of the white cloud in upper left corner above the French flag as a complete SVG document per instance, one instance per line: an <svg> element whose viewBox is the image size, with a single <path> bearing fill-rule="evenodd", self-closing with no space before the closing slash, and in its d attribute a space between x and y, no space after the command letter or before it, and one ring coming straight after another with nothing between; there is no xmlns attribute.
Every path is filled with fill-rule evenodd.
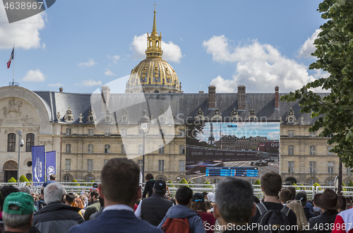
<svg viewBox="0 0 353 233"><path fill-rule="evenodd" d="M0 49L40 48L40 30L44 28L47 14L39 13L15 23L8 23L5 8L0 4Z"/></svg>

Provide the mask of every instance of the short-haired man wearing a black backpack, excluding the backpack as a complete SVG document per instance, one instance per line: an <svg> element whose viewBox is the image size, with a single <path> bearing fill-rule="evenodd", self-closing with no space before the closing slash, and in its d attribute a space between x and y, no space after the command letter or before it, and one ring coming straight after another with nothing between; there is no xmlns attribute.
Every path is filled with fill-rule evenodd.
<svg viewBox="0 0 353 233"><path fill-rule="evenodd" d="M280 174L277 172L266 172L263 174L261 177L261 190L263 191L263 205L265 205L265 208L267 210L282 210L283 205L280 203L278 200L278 193L282 189L282 178ZM261 203L258 203L260 205ZM256 223L259 220L259 217L261 215L259 206L258 210L256 211L256 215L251 217L251 223ZM297 232L294 229L294 226L297 225L297 215L293 212L293 210L289 210L287 213L287 218L289 220L289 225L293 226L291 229L292 231L289 232Z"/></svg>

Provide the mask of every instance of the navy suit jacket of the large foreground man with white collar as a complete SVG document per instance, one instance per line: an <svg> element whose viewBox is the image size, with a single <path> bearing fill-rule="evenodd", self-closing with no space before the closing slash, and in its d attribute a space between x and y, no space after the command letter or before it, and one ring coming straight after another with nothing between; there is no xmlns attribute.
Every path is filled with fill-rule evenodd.
<svg viewBox="0 0 353 233"><path fill-rule="evenodd" d="M162 233L148 222L139 220L130 210L107 210L94 220L70 228L69 233L126 232Z"/></svg>

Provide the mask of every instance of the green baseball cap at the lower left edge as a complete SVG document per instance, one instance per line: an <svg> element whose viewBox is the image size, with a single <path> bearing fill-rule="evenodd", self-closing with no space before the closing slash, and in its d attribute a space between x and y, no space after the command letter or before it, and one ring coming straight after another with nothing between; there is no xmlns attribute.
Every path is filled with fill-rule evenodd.
<svg viewBox="0 0 353 233"><path fill-rule="evenodd" d="M18 210L10 210L9 205L17 205ZM12 215L30 215L35 211L35 202L28 193L16 192L6 196L4 201L4 212Z"/></svg>

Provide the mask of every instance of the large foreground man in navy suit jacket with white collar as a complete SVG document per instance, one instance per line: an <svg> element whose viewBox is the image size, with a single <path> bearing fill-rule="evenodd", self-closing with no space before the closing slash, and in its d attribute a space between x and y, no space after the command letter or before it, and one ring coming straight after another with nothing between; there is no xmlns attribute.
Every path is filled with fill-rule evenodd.
<svg viewBox="0 0 353 233"><path fill-rule="evenodd" d="M123 158L109 160L102 169L102 183L98 185L104 198L100 217L72 227L69 233L86 232L158 232L148 222L133 214L133 205L141 196L140 169L135 162ZM119 185L116 185L119 184Z"/></svg>

